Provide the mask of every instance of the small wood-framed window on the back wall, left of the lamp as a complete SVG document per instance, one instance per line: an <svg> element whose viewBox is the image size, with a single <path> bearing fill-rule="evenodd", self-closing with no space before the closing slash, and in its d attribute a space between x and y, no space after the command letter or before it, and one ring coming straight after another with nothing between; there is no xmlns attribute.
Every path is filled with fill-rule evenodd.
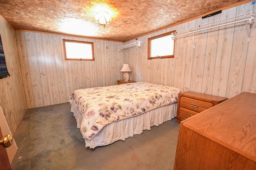
<svg viewBox="0 0 256 170"><path fill-rule="evenodd" d="M65 60L94 61L94 48L92 42L63 39Z"/></svg>

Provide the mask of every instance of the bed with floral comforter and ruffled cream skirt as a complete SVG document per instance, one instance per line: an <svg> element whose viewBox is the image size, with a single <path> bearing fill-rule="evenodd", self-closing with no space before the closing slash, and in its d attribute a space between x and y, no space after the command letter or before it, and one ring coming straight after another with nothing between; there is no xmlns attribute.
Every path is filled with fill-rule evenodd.
<svg viewBox="0 0 256 170"><path fill-rule="evenodd" d="M75 90L71 112L85 146L124 141L176 117L181 89L146 82Z"/></svg>

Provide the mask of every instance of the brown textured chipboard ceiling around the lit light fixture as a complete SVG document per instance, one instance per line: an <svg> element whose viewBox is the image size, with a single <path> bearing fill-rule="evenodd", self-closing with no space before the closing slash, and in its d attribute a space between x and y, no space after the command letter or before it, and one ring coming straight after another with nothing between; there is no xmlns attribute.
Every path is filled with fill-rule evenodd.
<svg viewBox="0 0 256 170"><path fill-rule="evenodd" d="M202 14L249 0L0 0L0 15L16 30L128 41ZM111 10L104 28L98 8Z"/></svg>

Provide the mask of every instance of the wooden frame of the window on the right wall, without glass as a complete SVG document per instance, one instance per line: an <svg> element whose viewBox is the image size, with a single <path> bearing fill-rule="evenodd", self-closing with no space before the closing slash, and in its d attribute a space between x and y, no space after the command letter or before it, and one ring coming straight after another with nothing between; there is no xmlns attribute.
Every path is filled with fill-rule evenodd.
<svg viewBox="0 0 256 170"><path fill-rule="evenodd" d="M164 33L164 34L161 34L161 35L157 35L157 36L148 38L148 60L151 60L151 59L163 59L163 58L174 58L175 39L173 40L174 42L173 42L173 54L172 55L165 55L165 56L159 56L159 57L158 56L150 57L150 55L151 55L151 40L171 35L174 32L176 32L176 31L174 30L174 31L171 31L171 32L168 32L168 33Z"/></svg>

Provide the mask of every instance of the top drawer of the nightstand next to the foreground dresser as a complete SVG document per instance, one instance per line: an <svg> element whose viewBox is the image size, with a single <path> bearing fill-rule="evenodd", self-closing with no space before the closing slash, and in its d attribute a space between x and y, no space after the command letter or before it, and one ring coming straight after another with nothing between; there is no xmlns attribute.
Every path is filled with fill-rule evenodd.
<svg viewBox="0 0 256 170"><path fill-rule="evenodd" d="M186 109L190 109L198 113L206 109L209 109L212 106L213 104L211 102L205 102L202 100L196 100L196 99L187 98L184 96L180 97L180 107L184 107Z"/></svg>

